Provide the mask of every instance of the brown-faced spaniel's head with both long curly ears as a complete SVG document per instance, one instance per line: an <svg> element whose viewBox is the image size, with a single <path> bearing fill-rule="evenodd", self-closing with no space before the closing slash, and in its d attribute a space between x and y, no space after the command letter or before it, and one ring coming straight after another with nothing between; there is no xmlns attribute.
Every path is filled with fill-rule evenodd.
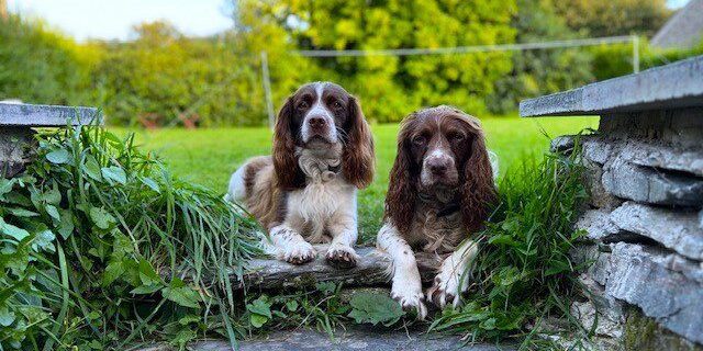
<svg viewBox="0 0 703 351"><path fill-rule="evenodd" d="M405 231L416 194L447 190L456 190L466 227L478 229L496 196L481 123L450 106L412 113L398 136L386 216Z"/></svg>

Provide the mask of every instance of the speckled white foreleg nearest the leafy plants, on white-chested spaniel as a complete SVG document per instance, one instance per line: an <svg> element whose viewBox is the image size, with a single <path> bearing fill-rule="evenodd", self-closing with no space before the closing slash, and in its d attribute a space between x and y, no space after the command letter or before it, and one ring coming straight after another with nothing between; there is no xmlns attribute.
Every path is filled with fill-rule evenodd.
<svg viewBox="0 0 703 351"><path fill-rule="evenodd" d="M269 233L278 250L278 259L293 264L302 264L315 259L317 254L315 249L290 224L284 222L271 228Z"/></svg>

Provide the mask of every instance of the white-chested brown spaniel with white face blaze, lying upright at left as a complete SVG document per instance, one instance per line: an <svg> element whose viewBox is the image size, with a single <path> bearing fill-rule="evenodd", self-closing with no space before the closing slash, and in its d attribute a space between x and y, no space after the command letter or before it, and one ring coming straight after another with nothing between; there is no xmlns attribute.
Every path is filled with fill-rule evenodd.
<svg viewBox="0 0 703 351"><path fill-rule="evenodd" d="M356 98L331 82L302 86L278 113L271 156L232 176L226 199L244 203L266 228L279 259L356 265L357 189L373 178L373 139Z"/></svg>

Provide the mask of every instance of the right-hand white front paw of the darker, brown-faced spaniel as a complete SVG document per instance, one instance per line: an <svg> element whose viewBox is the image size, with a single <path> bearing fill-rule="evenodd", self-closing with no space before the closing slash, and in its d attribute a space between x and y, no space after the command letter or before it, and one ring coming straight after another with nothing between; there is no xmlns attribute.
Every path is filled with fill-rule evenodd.
<svg viewBox="0 0 703 351"><path fill-rule="evenodd" d="M462 276L464 270L451 267L450 264L442 265L439 273L435 276L434 283L427 288L427 301L439 308L447 305L458 307L461 302L461 293L466 292L468 276Z"/></svg>

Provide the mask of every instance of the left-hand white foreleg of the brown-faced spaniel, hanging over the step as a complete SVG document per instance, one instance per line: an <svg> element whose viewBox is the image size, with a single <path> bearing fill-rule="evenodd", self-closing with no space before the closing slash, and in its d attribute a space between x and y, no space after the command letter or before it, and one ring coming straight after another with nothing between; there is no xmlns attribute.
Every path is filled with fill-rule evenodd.
<svg viewBox="0 0 703 351"><path fill-rule="evenodd" d="M417 318L425 319L427 307L423 303L422 281L412 248L390 223L383 224L379 230L377 246L392 259L391 297L398 301L403 309L416 309Z"/></svg>

